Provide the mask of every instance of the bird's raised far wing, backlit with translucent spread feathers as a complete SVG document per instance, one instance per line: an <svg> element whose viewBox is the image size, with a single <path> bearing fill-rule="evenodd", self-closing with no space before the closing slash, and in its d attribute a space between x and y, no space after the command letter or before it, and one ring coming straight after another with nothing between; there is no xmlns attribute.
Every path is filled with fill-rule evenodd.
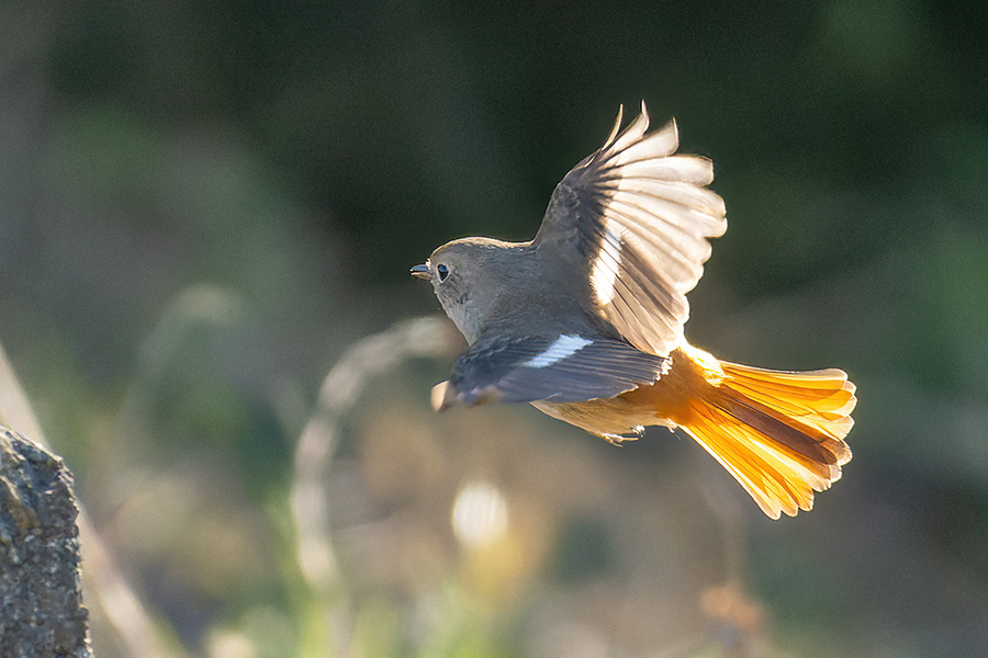
<svg viewBox="0 0 988 658"><path fill-rule="evenodd" d="M706 189L710 160L675 155L675 122L648 133L641 114L573 168L552 194L532 245L575 263L588 306L640 350L666 355L683 337L693 290L727 230L721 197Z"/></svg>

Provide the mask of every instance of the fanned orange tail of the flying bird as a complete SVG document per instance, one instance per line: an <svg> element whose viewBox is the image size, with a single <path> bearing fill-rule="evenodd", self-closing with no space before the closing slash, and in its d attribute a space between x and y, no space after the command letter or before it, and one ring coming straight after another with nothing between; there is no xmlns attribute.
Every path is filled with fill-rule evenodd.
<svg viewBox="0 0 988 658"><path fill-rule="evenodd" d="M851 460L843 439L856 398L847 375L761 370L693 349L689 356L708 385L691 387L676 424L773 519L810 510L813 491L830 488Z"/></svg>

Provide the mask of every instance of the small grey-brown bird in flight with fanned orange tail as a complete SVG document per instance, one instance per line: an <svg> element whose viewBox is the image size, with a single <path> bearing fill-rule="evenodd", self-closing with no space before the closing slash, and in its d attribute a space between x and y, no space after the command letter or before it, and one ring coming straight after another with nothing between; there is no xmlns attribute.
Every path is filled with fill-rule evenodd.
<svg viewBox="0 0 988 658"><path fill-rule="evenodd" d="M686 294L727 230L711 160L677 154L675 120L641 113L553 191L532 240L460 238L411 274L429 281L469 344L436 410L529 402L620 444L681 428L772 519L809 511L851 460L857 401L838 368L720 361L684 333Z"/></svg>

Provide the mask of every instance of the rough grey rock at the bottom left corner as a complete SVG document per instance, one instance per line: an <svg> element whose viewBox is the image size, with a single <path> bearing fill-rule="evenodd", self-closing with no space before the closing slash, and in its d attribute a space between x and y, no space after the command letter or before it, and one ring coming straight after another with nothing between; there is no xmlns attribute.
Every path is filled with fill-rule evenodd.
<svg viewBox="0 0 988 658"><path fill-rule="evenodd" d="M0 428L0 658L91 658L72 475Z"/></svg>

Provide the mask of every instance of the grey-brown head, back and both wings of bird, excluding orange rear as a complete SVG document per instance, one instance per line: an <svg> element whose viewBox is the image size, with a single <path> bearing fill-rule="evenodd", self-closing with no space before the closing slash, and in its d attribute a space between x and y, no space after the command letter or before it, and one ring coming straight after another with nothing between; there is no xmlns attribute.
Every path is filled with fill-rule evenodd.
<svg viewBox="0 0 988 658"><path fill-rule="evenodd" d="M559 183L534 240L454 240L413 268L470 343L440 406L609 398L655 382L685 344L685 295L727 228L723 202L705 189L709 160L674 155L675 123L647 133L644 103L620 122ZM560 337L587 342L524 365Z"/></svg>

